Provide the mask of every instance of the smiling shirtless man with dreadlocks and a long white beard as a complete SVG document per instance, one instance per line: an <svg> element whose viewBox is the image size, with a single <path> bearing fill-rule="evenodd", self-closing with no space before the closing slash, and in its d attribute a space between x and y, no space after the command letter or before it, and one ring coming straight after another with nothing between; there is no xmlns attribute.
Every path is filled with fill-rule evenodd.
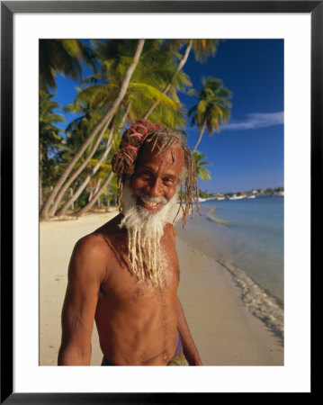
<svg viewBox="0 0 323 405"><path fill-rule="evenodd" d="M179 210L183 223L193 213L192 154L182 136L140 120L124 131L112 167L121 213L76 243L58 365L90 365L94 319L102 365L202 365L176 293L173 224Z"/></svg>

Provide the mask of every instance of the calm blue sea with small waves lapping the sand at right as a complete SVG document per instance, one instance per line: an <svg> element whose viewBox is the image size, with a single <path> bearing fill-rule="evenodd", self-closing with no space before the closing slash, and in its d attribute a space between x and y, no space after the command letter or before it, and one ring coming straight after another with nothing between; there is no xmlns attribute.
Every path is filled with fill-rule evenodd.
<svg viewBox="0 0 323 405"><path fill-rule="evenodd" d="M283 197L200 202L177 236L225 266L256 317L283 337Z"/></svg>

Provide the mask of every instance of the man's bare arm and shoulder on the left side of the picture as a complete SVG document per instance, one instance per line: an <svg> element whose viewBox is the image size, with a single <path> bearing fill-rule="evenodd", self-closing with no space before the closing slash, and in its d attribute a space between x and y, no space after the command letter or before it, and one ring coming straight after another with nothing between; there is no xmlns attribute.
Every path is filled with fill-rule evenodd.
<svg viewBox="0 0 323 405"><path fill-rule="evenodd" d="M80 239L68 267L58 365L90 365L94 315L104 271L98 238Z"/></svg>

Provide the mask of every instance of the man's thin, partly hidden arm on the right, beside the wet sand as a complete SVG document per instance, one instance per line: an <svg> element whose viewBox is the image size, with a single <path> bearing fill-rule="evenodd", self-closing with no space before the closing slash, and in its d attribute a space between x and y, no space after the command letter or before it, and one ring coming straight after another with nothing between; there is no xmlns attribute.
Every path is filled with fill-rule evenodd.
<svg viewBox="0 0 323 405"><path fill-rule="evenodd" d="M189 365L202 365L202 361L193 342L193 338L188 329L187 321L184 316L184 311L177 297L177 330L182 341L184 356Z"/></svg>

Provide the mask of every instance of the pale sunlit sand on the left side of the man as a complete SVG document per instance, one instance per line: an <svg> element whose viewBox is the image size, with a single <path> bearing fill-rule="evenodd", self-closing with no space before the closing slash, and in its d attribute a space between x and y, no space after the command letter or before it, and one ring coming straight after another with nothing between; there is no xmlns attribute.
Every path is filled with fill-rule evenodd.
<svg viewBox="0 0 323 405"><path fill-rule="evenodd" d="M67 288L67 267L79 238L111 220L118 212L90 214L78 220L40 222L40 365L57 365L60 315ZM91 365L100 365L102 353L94 325Z"/></svg>

